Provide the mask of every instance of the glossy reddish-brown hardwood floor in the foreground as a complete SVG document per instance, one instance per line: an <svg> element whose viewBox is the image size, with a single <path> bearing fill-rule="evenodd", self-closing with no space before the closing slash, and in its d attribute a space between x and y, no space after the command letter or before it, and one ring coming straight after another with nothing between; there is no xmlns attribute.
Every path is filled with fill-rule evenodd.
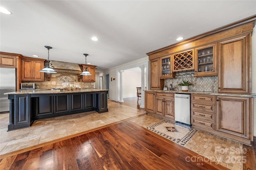
<svg viewBox="0 0 256 170"><path fill-rule="evenodd" d="M194 152L131 121L1 158L1 169L214 170Z"/></svg>

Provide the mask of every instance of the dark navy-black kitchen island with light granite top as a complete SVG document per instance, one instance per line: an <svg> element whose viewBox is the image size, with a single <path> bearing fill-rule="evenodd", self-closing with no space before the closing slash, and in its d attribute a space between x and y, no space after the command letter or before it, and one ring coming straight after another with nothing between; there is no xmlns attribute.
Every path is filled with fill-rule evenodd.
<svg viewBox="0 0 256 170"><path fill-rule="evenodd" d="M108 90L22 90L6 94L10 100L8 131L30 127L37 119L94 110L98 113L108 111Z"/></svg>

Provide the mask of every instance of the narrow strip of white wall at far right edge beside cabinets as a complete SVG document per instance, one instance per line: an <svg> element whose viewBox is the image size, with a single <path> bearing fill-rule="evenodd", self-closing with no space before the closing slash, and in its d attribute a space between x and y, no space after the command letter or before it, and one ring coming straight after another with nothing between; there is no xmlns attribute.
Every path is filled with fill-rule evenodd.
<svg viewBox="0 0 256 170"><path fill-rule="evenodd" d="M252 33L252 94L256 94L256 26ZM256 136L256 98L254 98L253 135Z"/></svg>

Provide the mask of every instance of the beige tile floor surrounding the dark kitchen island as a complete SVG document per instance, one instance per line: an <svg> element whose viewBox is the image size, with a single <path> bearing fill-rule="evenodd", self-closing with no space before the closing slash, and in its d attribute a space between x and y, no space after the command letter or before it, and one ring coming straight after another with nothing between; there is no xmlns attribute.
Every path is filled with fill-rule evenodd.
<svg viewBox="0 0 256 170"><path fill-rule="evenodd" d="M111 101L108 102L108 110L107 113L90 111L40 119L31 127L14 131L7 131L9 113L0 114L0 155L146 113L144 110Z"/></svg>

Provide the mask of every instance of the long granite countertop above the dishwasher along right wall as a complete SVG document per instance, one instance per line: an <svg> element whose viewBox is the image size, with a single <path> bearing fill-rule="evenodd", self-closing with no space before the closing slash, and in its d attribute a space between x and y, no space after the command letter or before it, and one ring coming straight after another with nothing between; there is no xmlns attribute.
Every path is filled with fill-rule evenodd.
<svg viewBox="0 0 256 170"><path fill-rule="evenodd" d="M228 93L218 93L218 92L200 92L200 91L188 91L182 92L178 90L144 90L148 92L165 92L165 93L182 93L182 94L208 94L208 95L218 95L218 96L238 96L238 97L252 97L256 98L256 94L228 94Z"/></svg>

